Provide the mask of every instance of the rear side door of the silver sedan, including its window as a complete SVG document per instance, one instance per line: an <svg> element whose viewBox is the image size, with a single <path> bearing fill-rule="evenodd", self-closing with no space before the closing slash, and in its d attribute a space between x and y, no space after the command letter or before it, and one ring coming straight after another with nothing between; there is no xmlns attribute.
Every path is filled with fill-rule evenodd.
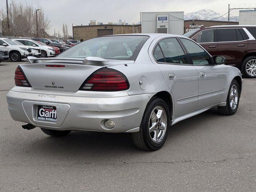
<svg viewBox="0 0 256 192"><path fill-rule="evenodd" d="M160 40L154 48L153 57L173 94L173 118L194 112L198 102L198 74L178 40Z"/></svg>

